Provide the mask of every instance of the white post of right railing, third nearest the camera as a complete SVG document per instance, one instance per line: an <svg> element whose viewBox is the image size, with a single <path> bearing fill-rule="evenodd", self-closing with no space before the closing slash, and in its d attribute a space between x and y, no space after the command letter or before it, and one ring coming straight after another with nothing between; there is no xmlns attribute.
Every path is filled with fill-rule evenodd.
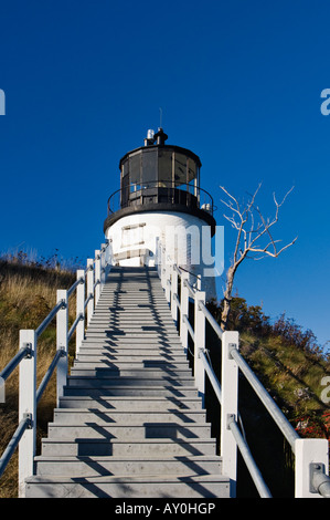
<svg viewBox="0 0 330 520"><path fill-rule="evenodd" d="M200 351L205 350L205 316L199 308L199 302L205 303L205 292L196 291L194 298L194 379L202 397L202 404L205 404L205 371L200 357Z"/></svg>

